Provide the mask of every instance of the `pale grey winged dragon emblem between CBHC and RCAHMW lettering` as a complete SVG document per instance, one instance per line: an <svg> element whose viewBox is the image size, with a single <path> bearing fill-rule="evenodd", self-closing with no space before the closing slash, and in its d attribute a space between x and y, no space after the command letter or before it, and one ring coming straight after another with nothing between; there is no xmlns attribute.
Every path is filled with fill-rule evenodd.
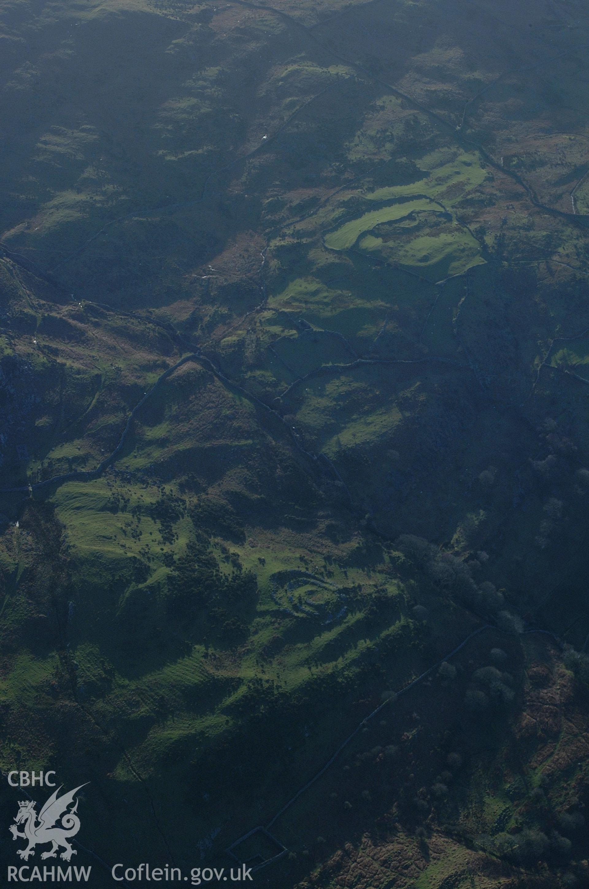
<svg viewBox="0 0 589 889"><path fill-rule="evenodd" d="M65 852L62 852L60 856L64 861L69 861L72 855L76 855L76 849L72 849L68 839L75 837L80 829L80 819L76 815L77 799L76 805L69 812L68 805L74 802L77 791L85 786L85 784L80 784L80 787L76 787L75 790L70 790L69 793L64 793L62 797L58 798L57 795L61 787L63 787L62 784L61 787L52 793L41 809L38 823L35 811L36 803L32 799L25 799L19 802L20 808L14 819L15 824L11 824L9 830L12 833L12 839L28 840L27 848L19 849L17 852L20 858L28 861L28 856L35 854L35 846L37 844L44 845L44 843L52 843L52 847L49 852L44 852L41 858L55 858L60 846L65 849ZM55 825L60 819L61 824L59 827L56 827ZM16 828L16 824L22 824L23 821L24 832L20 833Z"/></svg>

